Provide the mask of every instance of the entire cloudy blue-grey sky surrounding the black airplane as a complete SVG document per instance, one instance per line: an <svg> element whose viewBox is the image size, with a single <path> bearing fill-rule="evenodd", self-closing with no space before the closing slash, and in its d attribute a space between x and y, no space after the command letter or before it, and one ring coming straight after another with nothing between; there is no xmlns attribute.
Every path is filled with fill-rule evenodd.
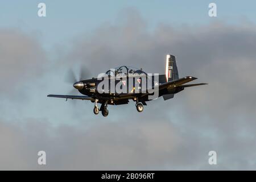
<svg viewBox="0 0 256 182"><path fill-rule="evenodd" d="M0 2L0 169L256 169L254 9L254 1ZM89 101L46 97L72 91L70 69L164 73L167 53L180 77L209 85L143 113L133 102L109 106L106 118ZM212 150L217 165L208 164Z"/></svg>

